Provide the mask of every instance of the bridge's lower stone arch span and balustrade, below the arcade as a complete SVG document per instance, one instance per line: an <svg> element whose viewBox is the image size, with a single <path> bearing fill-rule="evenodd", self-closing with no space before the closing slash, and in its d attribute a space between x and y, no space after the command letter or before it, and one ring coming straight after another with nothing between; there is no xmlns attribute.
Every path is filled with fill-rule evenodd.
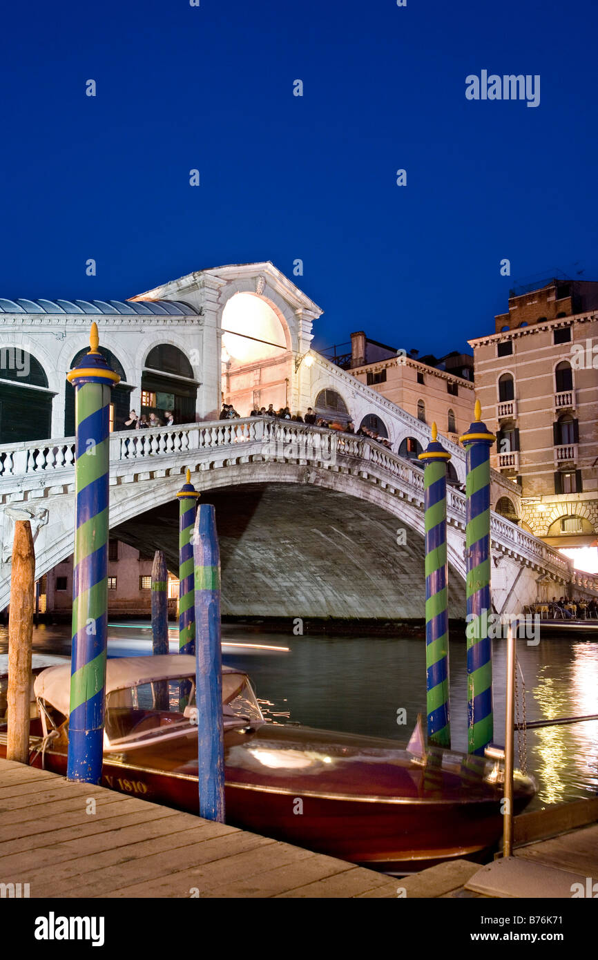
<svg viewBox="0 0 598 960"><path fill-rule="evenodd" d="M338 380L341 372L333 373ZM424 423L380 402L393 408L397 422L408 419L405 430L419 431L427 443ZM447 492L449 609L452 617L463 617L466 502L459 482L465 480L465 455L443 442L458 476ZM223 612L424 615L423 471L392 450L363 437L270 418L116 432L109 444L110 528L144 552L163 549L173 572L176 493L186 468L203 502L215 503ZM74 449L72 437L0 449L0 609L10 595L15 508L32 519L37 577L72 554ZM504 482L493 477L498 492ZM494 512L491 549L497 612L520 612L533 602L538 580L554 582L559 594L575 582L562 554Z"/></svg>

